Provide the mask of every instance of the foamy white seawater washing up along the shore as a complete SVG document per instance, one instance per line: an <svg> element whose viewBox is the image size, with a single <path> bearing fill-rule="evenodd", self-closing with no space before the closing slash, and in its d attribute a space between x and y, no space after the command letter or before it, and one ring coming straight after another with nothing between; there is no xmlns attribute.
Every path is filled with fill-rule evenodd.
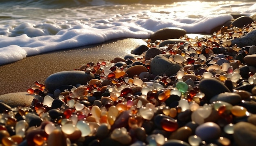
<svg viewBox="0 0 256 146"><path fill-rule="evenodd" d="M164 27L209 34L231 14L255 13L254 0L1 0L0 65Z"/></svg>

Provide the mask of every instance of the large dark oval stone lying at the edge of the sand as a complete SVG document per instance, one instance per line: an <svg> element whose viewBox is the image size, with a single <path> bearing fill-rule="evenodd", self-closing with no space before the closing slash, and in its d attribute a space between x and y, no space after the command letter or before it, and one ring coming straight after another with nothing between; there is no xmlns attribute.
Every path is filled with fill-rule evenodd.
<svg viewBox="0 0 256 146"><path fill-rule="evenodd" d="M61 71L49 75L45 80L45 88L50 92L62 85L82 84L86 85L88 81L94 78L92 73L85 73L84 71Z"/></svg>

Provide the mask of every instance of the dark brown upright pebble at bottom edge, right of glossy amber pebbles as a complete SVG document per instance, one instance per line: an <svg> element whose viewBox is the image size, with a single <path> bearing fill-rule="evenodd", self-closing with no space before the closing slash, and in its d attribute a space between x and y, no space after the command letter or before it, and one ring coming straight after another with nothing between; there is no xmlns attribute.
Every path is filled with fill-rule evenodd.
<svg viewBox="0 0 256 146"><path fill-rule="evenodd" d="M47 146L67 146L66 137L61 130L52 131L48 136Z"/></svg>

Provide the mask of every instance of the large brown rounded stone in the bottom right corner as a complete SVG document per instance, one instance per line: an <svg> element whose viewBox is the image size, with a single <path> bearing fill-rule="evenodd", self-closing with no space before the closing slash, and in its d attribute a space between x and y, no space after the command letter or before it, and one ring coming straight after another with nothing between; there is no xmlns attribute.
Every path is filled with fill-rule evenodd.
<svg viewBox="0 0 256 146"><path fill-rule="evenodd" d="M248 122L238 122L234 126L233 137L238 146L255 146L256 126Z"/></svg>

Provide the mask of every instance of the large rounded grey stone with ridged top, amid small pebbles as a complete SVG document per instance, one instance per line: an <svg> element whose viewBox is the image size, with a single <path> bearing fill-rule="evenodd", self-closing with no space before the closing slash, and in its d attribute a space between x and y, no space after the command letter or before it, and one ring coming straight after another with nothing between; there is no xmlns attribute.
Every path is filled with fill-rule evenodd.
<svg viewBox="0 0 256 146"><path fill-rule="evenodd" d="M156 55L150 63L150 73L161 76L171 76L177 73L182 65L174 61L170 61L168 59L170 56L171 55L167 54Z"/></svg>

